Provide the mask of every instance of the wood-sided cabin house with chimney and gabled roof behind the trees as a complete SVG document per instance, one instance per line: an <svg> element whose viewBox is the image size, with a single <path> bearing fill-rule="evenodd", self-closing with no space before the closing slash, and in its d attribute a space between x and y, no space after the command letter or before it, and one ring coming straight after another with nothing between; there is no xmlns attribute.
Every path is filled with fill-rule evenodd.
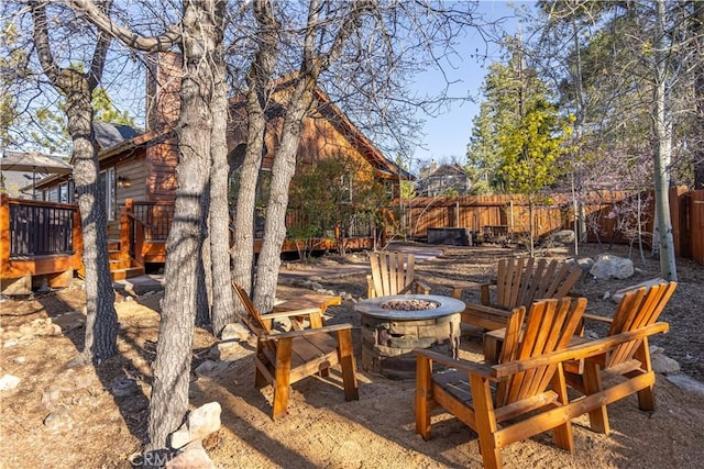
<svg viewBox="0 0 704 469"><path fill-rule="evenodd" d="M105 183L106 190L108 237L114 279L141 275L144 272L146 264L160 264L166 260L165 244L174 209L175 169L178 160L178 142L174 126L178 120L179 108L179 60L178 54L168 53L158 54L152 63L148 75L151 78L147 78L147 129L144 133L130 134L119 126L111 129L111 124L97 123L96 135L102 136L99 153L100 183ZM270 180L267 174L271 174L286 109L287 90L290 85L290 80L286 79L277 82L271 97L272 103L267 110L265 148L260 174L261 188L257 190L257 198L262 198L262 202L265 202L263 200L266 193L264 188ZM304 121L297 155L297 170L306 165L314 165L322 158L353 158L360 163L356 167L362 168L361 171L365 172L362 177L371 178L382 185L389 201L398 197L400 178L411 179L411 175L388 160L330 101L324 92L318 89L315 97L315 109ZM238 165L241 165L241 156L244 153L246 142L246 113L243 97L234 97L230 101L227 138L230 150L230 175L237 177ZM41 193L44 202L32 201L28 203L42 205L43 203L67 202L70 204L73 203L72 185L70 177L46 178L36 185L37 192ZM231 197L231 203L235 201ZM75 205L73 208L72 216L75 219L77 210L75 210ZM387 208L377 206L375 210L384 211ZM2 213L6 213L6 217L12 224L11 210L8 209ZM372 222L360 222L372 219L371 216L359 217L354 226L336 227L344 233L342 242L346 248L372 247L375 238L381 237L381 227L374 226ZM296 214L289 210L287 225L296 223ZM76 220L73 220L73 224L74 227L79 226ZM263 235L258 227L263 226L263 215L257 216L256 226L255 250L258 252ZM0 226L0 228L4 231L10 226ZM74 230L74 232L76 231L79 232L79 230ZM77 235L79 236L79 233ZM8 236L6 238L8 243L3 243L8 248L3 248L0 253L0 257L2 257L0 258L0 264L2 264L0 278L8 280L11 276L18 279L26 277L26 275L40 276L40 272L45 272L46 268L25 268L22 270L12 267L11 261L16 256L13 254L14 248L10 246L10 238L11 236ZM331 235L331 231L322 226L316 239L308 239L308 243L312 243L320 249L334 248L339 242L340 236ZM79 245L80 241L75 241L68 252L76 254L79 250ZM4 253L6 250L7 253ZM24 249L23 256L31 256L31 250ZM293 239L287 239L283 252L296 250L296 243ZM66 254L64 253L64 255ZM66 269L64 271L79 268L76 259L77 257L73 256L72 261L62 263L61 268ZM61 273L65 279L64 271ZM55 278L57 275L52 273L50 277ZM56 284L52 284L50 281L50 286L61 286L59 282L54 283ZM34 284L36 286L36 279Z"/></svg>

